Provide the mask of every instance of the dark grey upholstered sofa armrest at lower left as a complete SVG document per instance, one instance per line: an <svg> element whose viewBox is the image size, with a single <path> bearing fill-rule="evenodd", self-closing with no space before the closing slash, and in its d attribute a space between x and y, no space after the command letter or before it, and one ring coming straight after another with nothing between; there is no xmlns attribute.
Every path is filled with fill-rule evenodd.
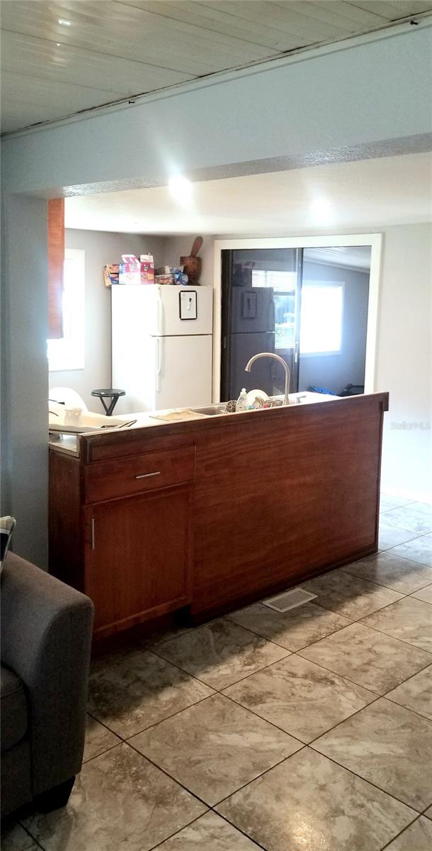
<svg viewBox="0 0 432 851"><path fill-rule="evenodd" d="M9 553L2 572L2 661L29 701L33 796L81 769L93 603Z"/></svg>

